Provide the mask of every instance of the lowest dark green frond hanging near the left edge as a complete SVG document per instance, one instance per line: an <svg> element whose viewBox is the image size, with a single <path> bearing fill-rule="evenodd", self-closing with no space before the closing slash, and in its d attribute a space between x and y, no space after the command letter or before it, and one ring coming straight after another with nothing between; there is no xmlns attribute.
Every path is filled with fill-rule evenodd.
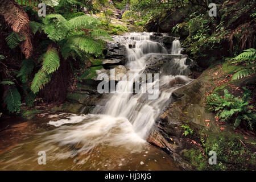
<svg viewBox="0 0 256 182"><path fill-rule="evenodd" d="M9 87L4 101L7 104L7 109L10 111L10 113L19 113L21 97L15 86Z"/></svg>

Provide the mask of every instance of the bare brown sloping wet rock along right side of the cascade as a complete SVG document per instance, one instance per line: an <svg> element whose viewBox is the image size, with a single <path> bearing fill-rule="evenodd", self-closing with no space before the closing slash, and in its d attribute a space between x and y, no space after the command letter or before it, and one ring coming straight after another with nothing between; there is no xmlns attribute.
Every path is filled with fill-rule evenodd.
<svg viewBox="0 0 256 182"><path fill-rule="evenodd" d="M182 151L187 147L188 138L182 136L183 130L180 126L190 125L194 129L193 136L200 135L202 131L220 132L215 125L214 115L205 108L205 93L210 89L208 85L210 85L209 78L201 76L175 90L162 114L156 119L155 126L147 139L148 142L171 154L184 169L190 169L190 165L182 155Z"/></svg>

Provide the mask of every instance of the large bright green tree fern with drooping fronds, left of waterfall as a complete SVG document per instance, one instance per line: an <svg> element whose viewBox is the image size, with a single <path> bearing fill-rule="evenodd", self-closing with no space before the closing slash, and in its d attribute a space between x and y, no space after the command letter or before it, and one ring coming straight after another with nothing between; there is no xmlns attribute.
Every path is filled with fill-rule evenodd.
<svg viewBox="0 0 256 182"><path fill-rule="evenodd" d="M34 93L39 92L51 80L52 73L59 69L59 54L64 59L72 56L73 60L77 57L85 59L90 55L101 56L103 44L100 39L111 39L107 32L98 28L100 22L89 15L67 20L60 14L50 14L44 18L41 27L38 27L38 23L34 24L35 30L42 28L53 42L39 59L39 61L43 60L42 68L36 73L31 84Z"/></svg>

